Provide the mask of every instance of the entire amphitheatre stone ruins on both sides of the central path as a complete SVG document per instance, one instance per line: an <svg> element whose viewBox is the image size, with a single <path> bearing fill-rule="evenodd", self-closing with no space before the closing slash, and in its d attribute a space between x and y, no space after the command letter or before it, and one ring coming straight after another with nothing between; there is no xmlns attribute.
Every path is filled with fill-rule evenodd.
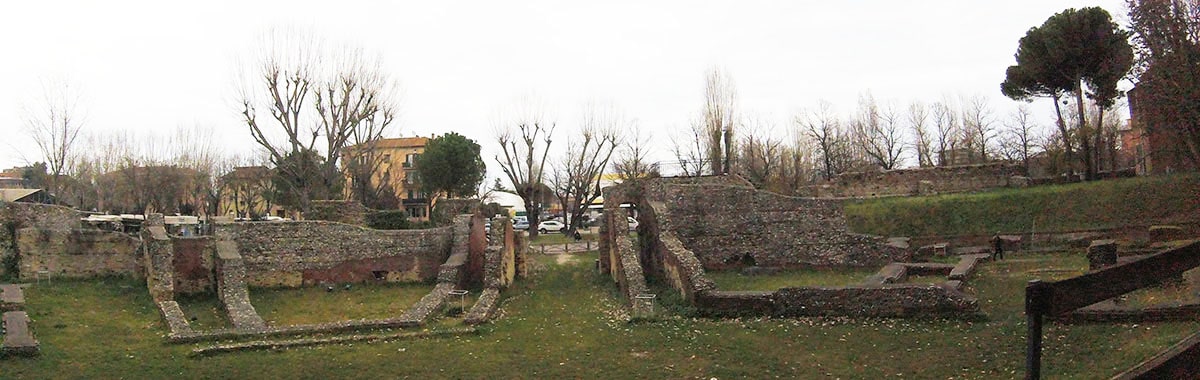
<svg viewBox="0 0 1200 380"><path fill-rule="evenodd" d="M560 258L570 260L558 263L587 266L580 273L599 281L581 285L584 291L595 295L606 294L606 289L613 291L618 303L616 315L626 331L676 324L680 315L673 310L680 307L691 310L683 318L716 324L829 320L853 326L914 320L971 326L1010 319L990 315L985 304L992 300L984 300L979 288L973 286L980 278L1003 275L979 273L992 263L989 251L977 247L978 236L884 237L848 228L845 204L859 198L845 195L860 194L863 188L878 197L1030 186L995 165L955 170L974 170L977 175L974 180L946 185L926 179L938 173L884 174L859 180L854 189L835 191L830 187L836 183L827 185L814 191L820 197L811 198L758 191L734 175L629 181L604 189L604 222L595 235L598 251L562 254ZM862 185L869 181L875 185ZM191 357L197 357L193 360L223 357L226 352L240 352L227 354L235 356L356 342L386 345L448 337L487 340L491 333L497 333L493 328L502 327L480 330L480 326L504 324L510 315L521 315L522 310L511 309L518 303L536 304L533 295L538 292L530 289L536 289L539 276L547 276L546 263L554 261L541 260L526 234L515 231L506 218L492 219L494 228L485 229L486 219L474 206L478 200L446 200L445 205L458 211L452 212L456 216L445 225L428 229L370 229L364 227L361 206L329 201L323 204L328 212L314 212L308 221L216 218L210 233L181 236L170 233L161 215L148 216L140 231L127 234L80 228L82 215L61 206L0 204L4 245L10 248L6 271L13 279L2 288L4 354L6 360L20 356L35 362L48 360L38 358L40 352L62 348L54 348L53 339L42 338L53 336L56 328L42 325L36 318L52 313L34 307L42 289L112 277L144 284L138 291L148 295L158 315L158 321L146 328L158 332L160 342L185 348ZM626 233L623 223L626 215L638 221L635 231ZM1200 265L1195 259L1200 257L1200 246L1186 241L1195 236L1194 229L1195 225L1184 225L1138 233L1110 230L1082 237L1080 233L1039 236L1064 245L1084 241L1092 271L1058 282L1031 283L1022 290L1028 291L1027 315L1016 320L1036 324L1036 354L1042 352L1043 319L1064 325L1194 321L1200 315L1200 303L1195 301L1141 308L1111 301L1124 292L1156 286L1164 278L1182 282L1184 272ZM1109 239L1122 234L1154 234L1148 237L1183 243L1118 255ZM1033 237L1006 235L1003 245L1010 252L1021 252L1031 246ZM851 283L756 290L722 289L712 278L713 273L756 277L814 269L851 269L874 275ZM427 292L386 318L317 324L264 318L252 296L257 289L335 292L390 283L425 284ZM1097 285L1102 283L1116 285ZM522 290L514 294L514 289ZM221 318L228 324L198 326L192 313L181 307L185 302L181 300L194 297L215 298ZM520 302L522 297L528 298L526 303ZM506 300L518 301L504 306ZM690 328L698 333L704 327ZM1034 330L1030 328L1022 338L1033 342ZM1196 355L1195 339L1192 336L1162 354L1139 357L1136 366L1124 368L1121 376L1153 378L1186 373L1172 370L1194 370L1190 363ZM1040 356L1037 362L1026 362L1030 363L1040 366Z"/></svg>

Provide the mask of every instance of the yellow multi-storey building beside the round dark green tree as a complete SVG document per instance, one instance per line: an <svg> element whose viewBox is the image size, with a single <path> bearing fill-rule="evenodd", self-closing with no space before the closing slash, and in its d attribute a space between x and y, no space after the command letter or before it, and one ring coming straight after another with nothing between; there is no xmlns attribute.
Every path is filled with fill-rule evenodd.
<svg viewBox="0 0 1200 380"><path fill-rule="evenodd" d="M371 173L371 186L383 187L395 194L397 207L408 212L413 219L425 221L430 217L430 197L421 192L416 180L416 157L425 152L430 141L424 137L406 137L380 139L370 146L348 146L342 153L343 168L352 159L364 167L377 167ZM354 183L349 170L346 171L346 199L356 199Z"/></svg>

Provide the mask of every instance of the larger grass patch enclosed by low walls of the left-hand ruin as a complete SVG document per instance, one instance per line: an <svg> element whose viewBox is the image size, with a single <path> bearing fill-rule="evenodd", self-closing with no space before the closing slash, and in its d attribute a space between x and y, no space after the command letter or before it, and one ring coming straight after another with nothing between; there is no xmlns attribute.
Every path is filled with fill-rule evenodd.
<svg viewBox="0 0 1200 380"><path fill-rule="evenodd" d="M430 290L433 290L432 284L353 284L348 290L334 286L334 291L322 286L251 288L250 302L268 325L308 325L396 318Z"/></svg>

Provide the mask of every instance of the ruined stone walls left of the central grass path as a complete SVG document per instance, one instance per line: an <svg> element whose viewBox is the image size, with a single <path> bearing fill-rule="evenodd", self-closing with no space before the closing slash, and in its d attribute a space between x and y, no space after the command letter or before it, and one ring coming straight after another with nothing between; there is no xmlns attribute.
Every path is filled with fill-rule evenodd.
<svg viewBox="0 0 1200 380"><path fill-rule="evenodd" d="M0 246L5 247L5 263L13 264L10 270L18 270L22 279L37 281L40 276L144 278L170 328L168 339L178 343L418 327L440 312L451 292L460 289L480 291L476 303L464 310L466 324L480 324L492 318L500 291L515 281L526 261L526 251L517 248L521 240L510 223L496 222L494 236L490 240L484 230L485 221L476 213L454 217L445 227L420 230L374 230L325 221L233 223L217 218L214 222L211 236L174 236L167 233L162 215L150 215L140 234L130 235L80 229L79 215L65 207L0 204L0 223L5 227ZM268 324L254 310L248 292L248 286L371 282L436 285L394 318L302 326ZM7 310L16 303L8 302L12 290L7 286L4 290ZM217 296L232 328L192 328L175 296L198 292ZM28 326L28 318L6 314L5 324L13 326L6 331L17 333ZM328 339L341 342L344 338ZM262 344L278 346L281 343ZM256 345L242 343L240 346L252 349ZM227 349L212 348L216 351Z"/></svg>

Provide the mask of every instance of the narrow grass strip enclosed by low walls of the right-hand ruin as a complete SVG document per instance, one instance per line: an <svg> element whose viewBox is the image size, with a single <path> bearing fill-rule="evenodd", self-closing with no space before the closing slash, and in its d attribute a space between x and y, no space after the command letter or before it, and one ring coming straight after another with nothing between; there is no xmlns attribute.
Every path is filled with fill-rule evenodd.
<svg viewBox="0 0 1200 380"><path fill-rule="evenodd" d="M745 276L738 271L706 272L720 290L778 290L790 286L845 286L862 284L878 269L788 270Z"/></svg>

